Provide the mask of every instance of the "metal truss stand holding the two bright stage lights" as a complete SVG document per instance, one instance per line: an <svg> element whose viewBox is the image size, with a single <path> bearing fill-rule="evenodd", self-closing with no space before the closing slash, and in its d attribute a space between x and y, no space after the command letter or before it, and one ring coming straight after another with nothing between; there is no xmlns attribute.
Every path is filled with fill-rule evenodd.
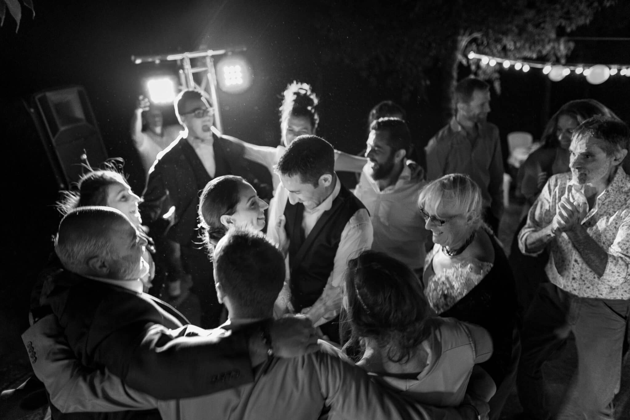
<svg viewBox="0 0 630 420"><path fill-rule="evenodd" d="M223 54L231 54L232 52L241 52L246 48L238 48L235 50L205 50L205 51L195 51L195 52L184 52L181 54L166 54L166 55L142 55L140 57L136 57L135 55L131 56L132 62L134 64L146 63L146 62L154 62L159 64L161 61L177 61L178 67L180 67L179 76L180 83L183 89L198 89L200 91L206 91L210 94L210 98L212 99L212 108L214 108L214 125L217 127L219 132L223 132L223 126L221 123L221 107L219 106L219 96L217 96L217 75L214 71L214 56L215 55L223 55ZM190 64L190 59L197 59L200 57L205 57L205 67L192 67ZM203 81L201 86L199 86L195 79L193 78L193 74L199 72L206 72L206 77L203 77Z"/></svg>

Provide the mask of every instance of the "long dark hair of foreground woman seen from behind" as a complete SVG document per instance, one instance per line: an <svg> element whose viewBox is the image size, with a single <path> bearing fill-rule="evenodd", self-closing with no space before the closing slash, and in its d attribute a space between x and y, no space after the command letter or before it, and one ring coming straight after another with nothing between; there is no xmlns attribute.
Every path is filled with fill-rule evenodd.
<svg viewBox="0 0 630 420"><path fill-rule="evenodd" d="M391 344L387 358L409 360L413 350L433 331L430 305L418 277L405 264L384 253L363 251L348 261L345 273L352 346L374 338Z"/></svg>

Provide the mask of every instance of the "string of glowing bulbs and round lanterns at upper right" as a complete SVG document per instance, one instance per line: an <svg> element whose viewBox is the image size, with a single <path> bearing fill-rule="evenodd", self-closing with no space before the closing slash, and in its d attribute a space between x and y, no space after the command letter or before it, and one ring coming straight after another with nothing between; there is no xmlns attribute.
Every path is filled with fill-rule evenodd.
<svg viewBox="0 0 630 420"><path fill-rule="evenodd" d="M551 78L554 81L564 79L564 77L569 76L571 72L585 76L587 81L592 84L600 84L604 82L608 79L609 75L614 76L619 74L619 76L630 77L630 67L627 64L557 64L533 60L519 60L515 62L502 57L477 54L474 51L469 52L467 57L469 60L481 60L482 65L495 66L500 63L503 65L503 69L506 70L512 67L512 65L515 70L522 70L523 72L528 72L530 69L541 69L543 74L546 74L549 77L553 76ZM553 72L552 69L554 69ZM593 71L591 71L591 69L593 69Z"/></svg>

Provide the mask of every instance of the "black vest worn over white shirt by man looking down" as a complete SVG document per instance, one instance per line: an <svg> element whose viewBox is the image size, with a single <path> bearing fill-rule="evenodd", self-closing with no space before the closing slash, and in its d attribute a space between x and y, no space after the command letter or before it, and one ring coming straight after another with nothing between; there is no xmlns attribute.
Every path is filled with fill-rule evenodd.
<svg viewBox="0 0 630 420"><path fill-rule="evenodd" d="M291 304L296 312L314 304L323 292L333 271L341 232L360 208L365 208L363 203L341 185L330 210L322 213L309 236L304 237L304 205L293 205L287 201L284 209L287 219L285 230L290 240Z"/></svg>

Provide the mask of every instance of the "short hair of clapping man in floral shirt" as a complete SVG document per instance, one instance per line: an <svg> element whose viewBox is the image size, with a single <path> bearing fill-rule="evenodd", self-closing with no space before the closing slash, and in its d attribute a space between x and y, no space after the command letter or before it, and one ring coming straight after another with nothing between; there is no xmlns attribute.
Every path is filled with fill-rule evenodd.
<svg viewBox="0 0 630 420"><path fill-rule="evenodd" d="M604 149L607 156L612 156L622 149L628 150L630 129L621 120L605 116L593 116L578 125L573 131L573 140L582 137L594 137L595 139L604 140L602 149Z"/></svg>

